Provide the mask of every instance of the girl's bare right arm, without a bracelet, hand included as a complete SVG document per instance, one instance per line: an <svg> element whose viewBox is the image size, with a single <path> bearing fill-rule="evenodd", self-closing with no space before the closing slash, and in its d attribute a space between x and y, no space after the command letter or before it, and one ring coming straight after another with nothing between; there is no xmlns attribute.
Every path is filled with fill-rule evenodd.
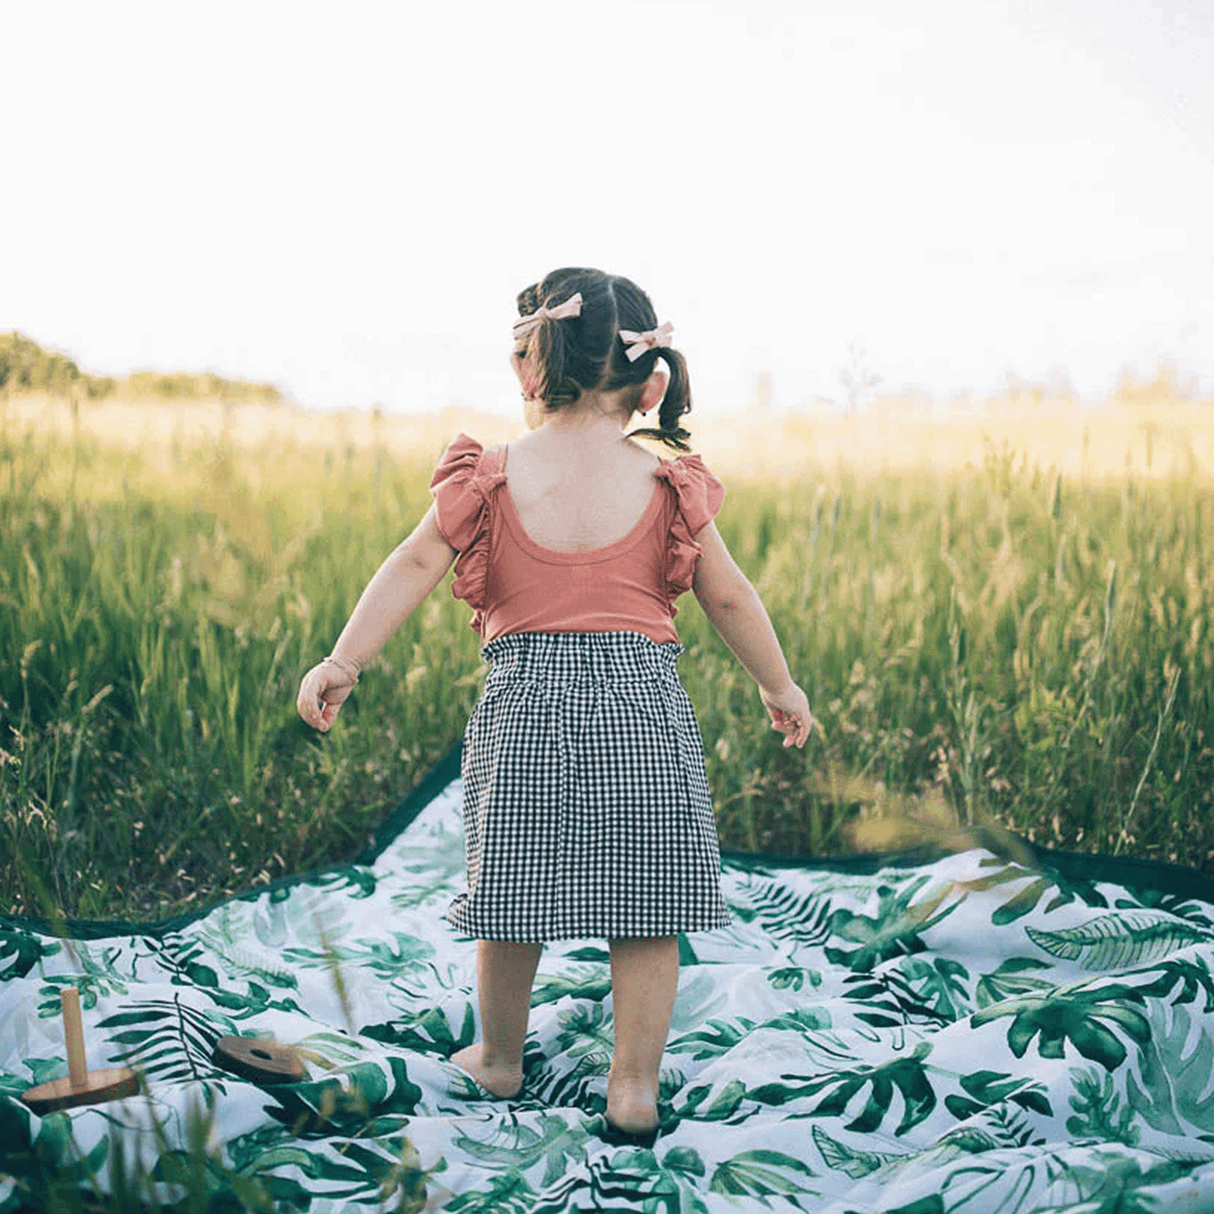
<svg viewBox="0 0 1214 1214"><path fill-rule="evenodd" d="M721 640L759 685L759 697L771 714L771 727L784 734L785 747L804 747L813 725L810 702L793 682L755 588L730 556L715 523L709 523L696 540L704 550L692 583L696 599Z"/></svg>

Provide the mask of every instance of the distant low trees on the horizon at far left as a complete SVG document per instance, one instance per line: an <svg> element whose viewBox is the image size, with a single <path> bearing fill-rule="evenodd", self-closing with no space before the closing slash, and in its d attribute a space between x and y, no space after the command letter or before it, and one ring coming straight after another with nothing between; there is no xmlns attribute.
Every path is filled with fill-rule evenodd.
<svg viewBox="0 0 1214 1214"><path fill-rule="evenodd" d="M102 401L109 396L160 399L228 399L277 404L283 398L273 384L228 380L204 371L135 371L121 379L81 371L66 354L42 350L19 333L0 333L0 392L46 392L50 396L85 396Z"/></svg>

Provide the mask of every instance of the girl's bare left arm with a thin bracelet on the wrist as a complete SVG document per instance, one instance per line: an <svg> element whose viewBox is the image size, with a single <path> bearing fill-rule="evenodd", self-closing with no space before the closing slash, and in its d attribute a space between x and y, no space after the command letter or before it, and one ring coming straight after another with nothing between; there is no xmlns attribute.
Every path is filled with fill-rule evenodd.
<svg viewBox="0 0 1214 1214"><path fill-rule="evenodd" d="M296 707L308 725L318 730L333 725L337 709L358 681L357 671L442 582L455 555L439 533L431 506L413 534L393 549L367 583L330 658L304 676Z"/></svg>

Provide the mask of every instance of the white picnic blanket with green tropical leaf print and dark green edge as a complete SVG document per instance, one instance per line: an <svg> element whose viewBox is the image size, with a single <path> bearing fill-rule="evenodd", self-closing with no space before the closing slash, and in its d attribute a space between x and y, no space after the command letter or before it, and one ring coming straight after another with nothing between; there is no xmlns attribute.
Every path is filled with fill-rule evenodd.
<svg viewBox="0 0 1214 1214"><path fill-rule="evenodd" d="M1214 1210L1214 881L1038 849L726 853L734 921L680 941L649 1148L601 1136L605 941L545 948L518 1099L448 1061L477 1032L475 943L443 918L460 796L453 753L361 863L193 917L0 919L0 1212L32 1145L102 1191L138 1159L166 1201L193 1146L216 1208L256 1184L310 1214ZM39 1118L18 1094L67 1073L64 983L90 1067L146 1091ZM294 1043L307 1079L220 1068L226 1036Z"/></svg>

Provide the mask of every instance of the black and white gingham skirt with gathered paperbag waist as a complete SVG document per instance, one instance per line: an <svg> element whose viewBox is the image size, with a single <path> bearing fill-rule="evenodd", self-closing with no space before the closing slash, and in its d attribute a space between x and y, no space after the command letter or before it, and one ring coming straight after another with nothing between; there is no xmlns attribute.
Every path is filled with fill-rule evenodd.
<svg viewBox="0 0 1214 1214"><path fill-rule="evenodd" d="M482 653L464 734L467 894L450 923L521 942L727 926L682 646L514 632Z"/></svg>

